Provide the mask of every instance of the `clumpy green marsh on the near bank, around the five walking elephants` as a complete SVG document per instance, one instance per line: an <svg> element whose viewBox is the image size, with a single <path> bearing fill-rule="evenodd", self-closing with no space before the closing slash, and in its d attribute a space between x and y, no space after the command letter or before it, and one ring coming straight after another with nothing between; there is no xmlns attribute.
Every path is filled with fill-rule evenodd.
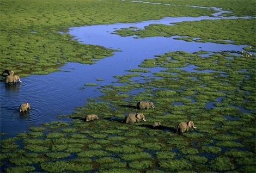
<svg viewBox="0 0 256 173"><path fill-rule="evenodd" d="M7 172L35 171L34 165L45 172L255 171L256 90L250 87L255 85L255 56L207 54L204 58L197 52L156 55L157 72L147 70L148 79L144 70L119 76L129 80L104 86L101 97L62 116L72 121L44 123L2 140L1 164L9 165ZM167 67L172 61L198 70ZM217 66L211 66L212 61ZM141 110L148 122L122 123L125 114L138 112L135 106L140 100L155 103L155 109ZM85 122L88 113L100 119ZM198 128L177 135L176 125L186 120ZM162 126L153 129L156 121Z"/></svg>

